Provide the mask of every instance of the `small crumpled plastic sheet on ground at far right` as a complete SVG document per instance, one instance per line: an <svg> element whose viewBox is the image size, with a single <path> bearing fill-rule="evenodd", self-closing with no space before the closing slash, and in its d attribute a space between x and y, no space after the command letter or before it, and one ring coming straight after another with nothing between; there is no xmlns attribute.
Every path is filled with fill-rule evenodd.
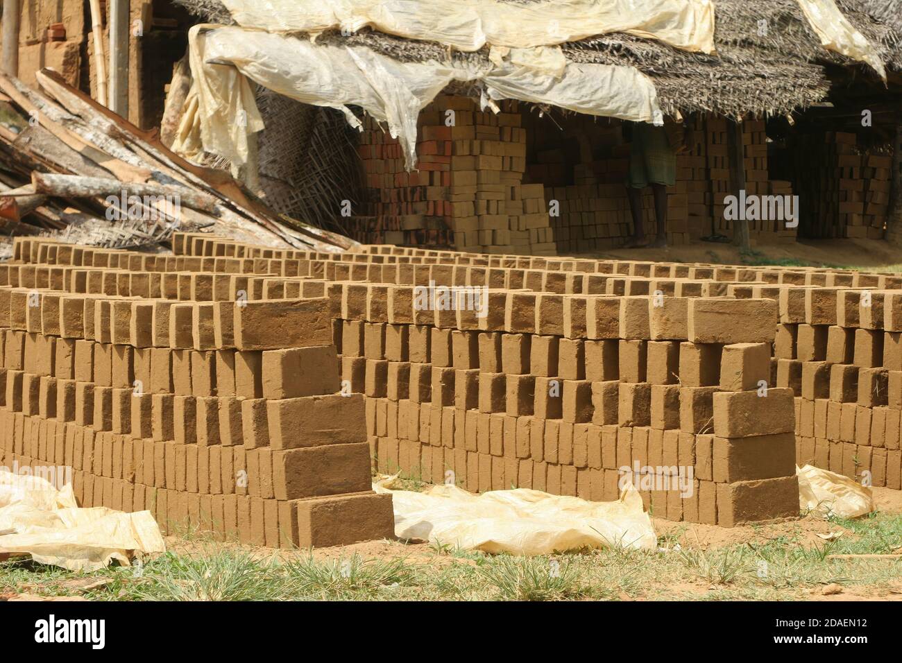
<svg viewBox="0 0 902 663"><path fill-rule="evenodd" d="M874 511L870 488L813 465L796 467L799 506L820 516L858 518Z"/></svg>

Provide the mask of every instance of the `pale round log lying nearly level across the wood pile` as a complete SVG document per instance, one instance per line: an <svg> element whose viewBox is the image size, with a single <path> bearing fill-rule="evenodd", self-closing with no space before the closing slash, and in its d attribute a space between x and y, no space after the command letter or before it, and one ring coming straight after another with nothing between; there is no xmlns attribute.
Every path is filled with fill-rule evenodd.
<svg viewBox="0 0 902 663"><path fill-rule="evenodd" d="M198 209L208 214L216 211L216 198L200 191L163 184L122 182L80 175L57 175L32 172L32 184L36 193L46 193L60 198L103 198L106 196L138 196L152 198L176 198L180 205Z"/></svg>

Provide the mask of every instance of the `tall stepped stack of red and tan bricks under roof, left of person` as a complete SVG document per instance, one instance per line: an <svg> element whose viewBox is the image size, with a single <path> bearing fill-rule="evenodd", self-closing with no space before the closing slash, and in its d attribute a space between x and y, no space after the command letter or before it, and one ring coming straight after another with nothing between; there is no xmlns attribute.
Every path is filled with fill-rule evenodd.
<svg viewBox="0 0 902 663"><path fill-rule="evenodd" d="M367 199L354 218L365 242L446 245L486 253L552 253L541 187L522 187L526 132L516 102L481 112L466 97L439 96L418 118L417 170L372 119L360 154Z"/></svg>

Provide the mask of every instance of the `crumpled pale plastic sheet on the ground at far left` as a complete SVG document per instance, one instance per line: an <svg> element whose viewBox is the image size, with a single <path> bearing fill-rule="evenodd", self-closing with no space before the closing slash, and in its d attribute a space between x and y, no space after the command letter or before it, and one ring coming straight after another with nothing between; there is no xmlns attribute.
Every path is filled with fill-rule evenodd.
<svg viewBox="0 0 902 663"><path fill-rule="evenodd" d="M41 476L0 469L0 555L27 554L70 571L95 571L136 553L166 550L150 511L80 509L72 484L57 490Z"/></svg>

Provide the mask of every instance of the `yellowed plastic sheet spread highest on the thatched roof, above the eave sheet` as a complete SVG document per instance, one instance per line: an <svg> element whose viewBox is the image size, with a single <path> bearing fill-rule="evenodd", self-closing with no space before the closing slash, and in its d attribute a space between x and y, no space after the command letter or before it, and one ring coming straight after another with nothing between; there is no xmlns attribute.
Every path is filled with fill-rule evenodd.
<svg viewBox="0 0 902 663"><path fill-rule="evenodd" d="M235 22L271 32L365 26L460 51L530 48L630 32L686 51L714 50L711 0L224 0Z"/></svg>

